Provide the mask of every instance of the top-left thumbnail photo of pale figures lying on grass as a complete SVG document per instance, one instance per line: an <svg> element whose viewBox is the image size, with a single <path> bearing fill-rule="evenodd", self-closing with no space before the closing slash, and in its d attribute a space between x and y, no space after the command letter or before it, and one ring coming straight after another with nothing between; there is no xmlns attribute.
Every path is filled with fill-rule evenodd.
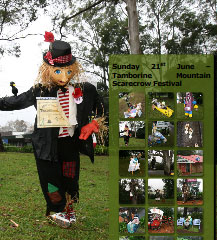
<svg viewBox="0 0 217 240"><path fill-rule="evenodd" d="M144 92L119 93L119 117L141 118L145 116Z"/></svg>

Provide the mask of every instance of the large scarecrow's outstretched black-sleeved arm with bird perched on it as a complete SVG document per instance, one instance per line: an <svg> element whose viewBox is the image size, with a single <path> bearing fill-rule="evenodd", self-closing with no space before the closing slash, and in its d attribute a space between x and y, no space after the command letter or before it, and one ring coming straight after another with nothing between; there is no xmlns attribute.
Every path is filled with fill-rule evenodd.
<svg viewBox="0 0 217 240"><path fill-rule="evenodd" d="M36 98L34 94L34 88L30 88L27 92L12 97L0 98L0 110L1 111L13 111L20 110L35 104Z"/></svg>

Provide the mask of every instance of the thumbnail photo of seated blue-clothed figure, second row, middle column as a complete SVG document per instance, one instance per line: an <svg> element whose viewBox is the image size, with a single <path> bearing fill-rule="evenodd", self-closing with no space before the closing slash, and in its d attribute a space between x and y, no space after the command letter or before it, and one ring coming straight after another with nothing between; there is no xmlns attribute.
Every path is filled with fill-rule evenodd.
<svg viewBox="0 0 217 240"><path fill-rule="evenodd" d="M174 145L174 123L154 121L148 123L149 147L172 147Z"/></svg>

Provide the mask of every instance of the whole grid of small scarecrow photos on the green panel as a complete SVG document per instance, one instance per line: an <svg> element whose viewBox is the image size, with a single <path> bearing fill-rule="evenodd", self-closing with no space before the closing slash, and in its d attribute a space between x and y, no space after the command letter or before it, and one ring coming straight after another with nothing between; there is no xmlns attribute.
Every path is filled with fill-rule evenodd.
<svg viewBox="0 0 217 240"><path fill-rule="evenodd" d="M203 94L119 93L119 240L203 239Z"/></svg>

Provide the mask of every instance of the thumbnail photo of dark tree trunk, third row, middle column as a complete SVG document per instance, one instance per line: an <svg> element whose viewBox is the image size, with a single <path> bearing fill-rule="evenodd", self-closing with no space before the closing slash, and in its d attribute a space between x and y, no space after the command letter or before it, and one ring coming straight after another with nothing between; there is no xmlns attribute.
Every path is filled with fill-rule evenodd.
<svg viewBox="0 0 217 240"><path fill-rule="evenodd" d="M174 175L174 151L149 150L148 151L148 175L149 176L173 176Z"/></svg>

